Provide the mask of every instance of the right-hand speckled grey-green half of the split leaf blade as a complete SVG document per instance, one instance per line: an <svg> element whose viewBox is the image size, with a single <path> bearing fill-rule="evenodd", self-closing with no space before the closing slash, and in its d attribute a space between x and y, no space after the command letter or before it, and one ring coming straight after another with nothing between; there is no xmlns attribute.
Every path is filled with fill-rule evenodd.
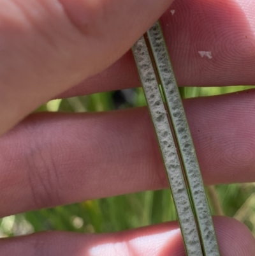
<svg viewBox="0 0 255 256"><path fill-rule="evenodd" d="M219 256L212 216L179 89L159 22L147 32L175 130L205 256Z"/></svg>

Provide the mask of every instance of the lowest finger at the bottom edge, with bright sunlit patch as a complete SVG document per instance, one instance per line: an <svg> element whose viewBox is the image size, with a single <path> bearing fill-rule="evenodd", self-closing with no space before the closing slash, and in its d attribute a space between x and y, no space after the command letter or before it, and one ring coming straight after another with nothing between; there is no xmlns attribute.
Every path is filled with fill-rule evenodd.
<svg viewBox="0 0 255 256"><path fill-rule="evenodd" d="M221 256L253 256L251 232L236 220L214 218ZM26 256L185 256L176 222L115 234L84 235L47 232L0 241L1 255Z"/></svg>

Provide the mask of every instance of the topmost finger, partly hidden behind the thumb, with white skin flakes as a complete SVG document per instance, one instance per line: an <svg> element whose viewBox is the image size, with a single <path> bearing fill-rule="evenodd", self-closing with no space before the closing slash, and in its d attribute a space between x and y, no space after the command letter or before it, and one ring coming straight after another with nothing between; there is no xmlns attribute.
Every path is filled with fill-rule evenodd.
<svg viewBox="0 0 255 256"><path fill-rule="evenodd" d="M255 84L254 14L249 0L175 1L161 24L179 86ZM135 86L140 80L129 52L61 97Z"/></svg>

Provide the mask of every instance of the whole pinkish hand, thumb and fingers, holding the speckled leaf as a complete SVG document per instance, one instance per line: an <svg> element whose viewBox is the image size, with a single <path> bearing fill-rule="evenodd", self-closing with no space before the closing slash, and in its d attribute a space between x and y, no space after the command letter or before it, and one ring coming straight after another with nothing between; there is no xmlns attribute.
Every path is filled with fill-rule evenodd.
<svg viewBox="0 0 255 256"><path fill-rule="evenodd" d="M146 108L29 115L59 95L140 86L128 50L166 10L161 22L180 86L255 84L253 0L0 6L0 217L167 187ZM249 91L184 102L206 184L255 181L254 99ZM214 223L222 256L255 255L244 225ZM175 222L92 236L47 232L2 239L0 247L1 256L185 255Z"/></svg>

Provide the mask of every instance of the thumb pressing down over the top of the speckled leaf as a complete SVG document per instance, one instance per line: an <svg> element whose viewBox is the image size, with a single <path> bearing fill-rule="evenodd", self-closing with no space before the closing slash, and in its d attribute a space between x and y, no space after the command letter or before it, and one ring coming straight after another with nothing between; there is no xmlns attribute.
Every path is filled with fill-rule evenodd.
<svg viewBox="0 0 255 256"><path fill-rule="evenodd" d="M119 59L171 0L1 0L0 135Z"/></svg>

